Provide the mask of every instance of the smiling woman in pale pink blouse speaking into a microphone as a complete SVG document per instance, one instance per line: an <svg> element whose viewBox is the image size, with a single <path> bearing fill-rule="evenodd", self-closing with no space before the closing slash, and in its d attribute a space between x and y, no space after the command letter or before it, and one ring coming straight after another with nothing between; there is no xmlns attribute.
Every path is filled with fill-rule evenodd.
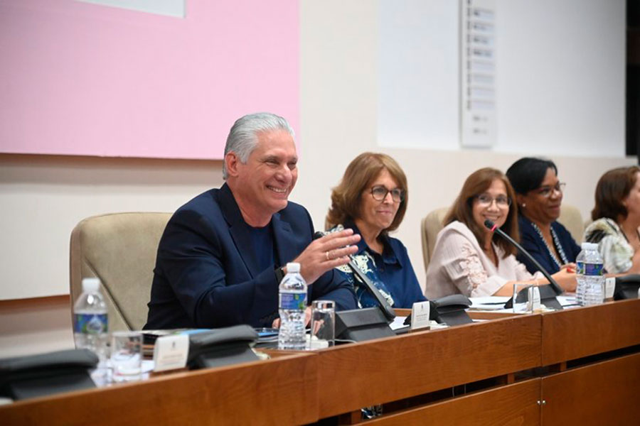
<svg viewBox="0 0 640 426"><path fill-rule="evenodd" d="M494 168L481 168L466 178L444 219L427 268L425 295L430 299L462 293L468 297L510 296L513 283L544 284L541 273L531 274L516 260L516 248L484 225L486 220L518 239L515 197L506 176ZM555 273L567 291L575 290L575 274Z"/></svg>

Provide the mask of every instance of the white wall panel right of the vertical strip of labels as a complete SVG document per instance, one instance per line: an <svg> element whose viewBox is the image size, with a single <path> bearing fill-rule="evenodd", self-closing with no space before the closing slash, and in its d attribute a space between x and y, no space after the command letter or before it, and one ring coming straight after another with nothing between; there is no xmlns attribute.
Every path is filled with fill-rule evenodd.
<svg viewBox="0 0 640 426"><path fill-rule="evenodd" d="M624 155L624 4L498 1L497 151Z"/></svg>

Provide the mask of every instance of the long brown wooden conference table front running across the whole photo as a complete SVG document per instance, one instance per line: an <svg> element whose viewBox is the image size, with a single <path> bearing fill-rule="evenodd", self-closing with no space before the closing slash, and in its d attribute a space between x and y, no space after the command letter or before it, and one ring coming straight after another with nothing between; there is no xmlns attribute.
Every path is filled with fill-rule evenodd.
<svg viewBox="0 0 640 426"><path fill-rule="evenodd" d="M485 318L491 315L483 315ZM500 316L0 407L2 425L634 425L640 300Z"/></svg>

